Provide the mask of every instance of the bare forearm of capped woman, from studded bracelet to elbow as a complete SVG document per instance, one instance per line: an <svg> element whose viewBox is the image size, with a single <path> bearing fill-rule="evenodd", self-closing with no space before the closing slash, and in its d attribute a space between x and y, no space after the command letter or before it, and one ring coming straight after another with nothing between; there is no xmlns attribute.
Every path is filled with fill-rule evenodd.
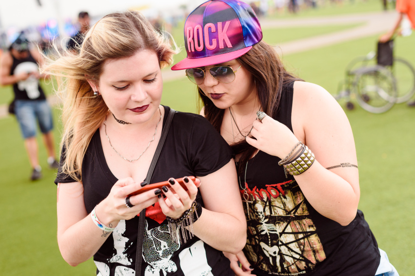
<svg viewBox="0 0 415 276"><path fill-rule="evenodd" d="M356 168L347 169L356 170ZM350 171L350 173L358 172ZM319 214L343 226L348 225L356 216L360 191L354 190L349 182L325 169L317 160L304 173L294 178L304 197Z"/></svg>

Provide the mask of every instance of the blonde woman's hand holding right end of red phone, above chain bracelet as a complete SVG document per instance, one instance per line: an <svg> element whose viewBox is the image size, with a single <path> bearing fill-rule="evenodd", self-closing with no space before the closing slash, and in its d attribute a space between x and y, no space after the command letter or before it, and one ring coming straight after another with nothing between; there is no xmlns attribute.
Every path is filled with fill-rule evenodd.
<svg viewBox="0 0 415 276"><path fill-rule="evenodd" d="M170 178L168 181L170 185L164 186L162 191L166 195L166 200L161 197L159 198L159 204L163 211L163 214L174 219L178 219L183 215L184 211L190 209L193 201L196 199L198 194L198 187L200 186L200 180L196 179L193 182L189 178L184 184L187 187L187 191L174 179ZM173 193L174 191L174 193Z"/></svg>

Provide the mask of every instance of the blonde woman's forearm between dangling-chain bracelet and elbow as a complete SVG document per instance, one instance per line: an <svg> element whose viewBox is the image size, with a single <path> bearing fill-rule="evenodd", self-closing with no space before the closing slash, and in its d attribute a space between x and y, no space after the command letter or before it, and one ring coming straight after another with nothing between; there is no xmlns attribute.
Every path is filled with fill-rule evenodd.
<svg viewBox="0 0 415 276"><path fill-rule="evenodd" d="M220 251L236 254L247 240L247 223L236 217L203 208L202 215L193 224L195 235Z"/></svg>

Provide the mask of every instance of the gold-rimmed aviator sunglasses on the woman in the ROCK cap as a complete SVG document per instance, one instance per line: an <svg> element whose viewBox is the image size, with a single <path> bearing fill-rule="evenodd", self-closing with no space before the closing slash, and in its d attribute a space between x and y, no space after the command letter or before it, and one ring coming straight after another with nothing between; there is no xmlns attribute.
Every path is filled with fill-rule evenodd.
<svg viewBox="0 0 415 276"><path fill-rule="evenodd" d="M242 65L241 65L242 66ZM241 68L241 66L238 67ZM189 68L186 69L186 76L191 82L200 85L205 79L205 71L209 69L209 74L217 81L223 83L231 83L235 80L236 69L233 71L231 66L214 66L210 68Z"/></svg>

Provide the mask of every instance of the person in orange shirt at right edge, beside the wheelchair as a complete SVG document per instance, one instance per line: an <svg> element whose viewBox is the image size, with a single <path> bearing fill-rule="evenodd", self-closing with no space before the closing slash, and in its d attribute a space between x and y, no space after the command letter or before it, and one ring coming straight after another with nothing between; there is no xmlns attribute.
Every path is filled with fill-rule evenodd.
<svg viewBox="0 0 415 276"><path fill-rule="evenodd" d="M397 0L396 10L399 13L398 19L395 22L393 28L379 38L379 41L382 43L391 40L392 37L397 33L402 21L404 20L405 15L408 18L409 22L411 22L411 28L415 29L415 0ZM410 31L409 26L408 30ZM402 35L404 35L403 32ZM408 102L408 106L415 107L415 101Z"/></svg>

